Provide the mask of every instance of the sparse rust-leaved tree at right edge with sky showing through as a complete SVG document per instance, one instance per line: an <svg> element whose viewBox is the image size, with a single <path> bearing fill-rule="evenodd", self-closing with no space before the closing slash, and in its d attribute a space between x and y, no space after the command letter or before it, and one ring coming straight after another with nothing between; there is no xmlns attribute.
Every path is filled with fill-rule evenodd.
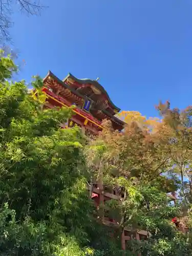
<svg viewBox="0 0 192 256"><path fill-rule="evenodd" d="M183 217L188 219L191 215L192 206L192 126L191 106L184 110L170 109L170 104L160 103L157 106L163 123L163 130L166 134L169 150L167 155L170 158L169 174L180 177L179 199L183 205Z"/></svg>

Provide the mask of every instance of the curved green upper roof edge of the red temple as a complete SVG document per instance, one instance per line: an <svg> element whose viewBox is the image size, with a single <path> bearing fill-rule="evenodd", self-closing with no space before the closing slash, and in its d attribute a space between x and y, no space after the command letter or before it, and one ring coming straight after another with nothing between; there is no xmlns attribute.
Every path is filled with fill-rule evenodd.
<svg viewBox="0 0 192 256"><path fill-rule="evenodd" d="M76 82L79 82L81 84L84 83L91 83L93 84L97 89L99 89L102 93L104 93L106 95L106 97L108 98L108 101L110 102L110 104L112 105L112 107L116 110L116 111L120 111L120 109L112 102L112 100L110 99L109 94L105 91L105 89L101 86L100 83L98 83L97 81L91 80L89 78L86 79L79 79L76 78L75 76L73 76L71 73L68 74L68 76L63 79L63 81L65 81L67 78L71 77L72 79L74 79Z"/></svg>

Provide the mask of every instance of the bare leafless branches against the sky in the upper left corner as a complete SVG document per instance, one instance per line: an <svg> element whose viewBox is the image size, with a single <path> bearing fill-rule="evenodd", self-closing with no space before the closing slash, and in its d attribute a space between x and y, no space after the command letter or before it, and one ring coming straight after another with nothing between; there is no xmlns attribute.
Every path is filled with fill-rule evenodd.
<svg viewBox="0 0 192 256"><path fill-rule="evenodd" d="M38 0L1 0L0 2L0 31L1 40L11 40L9 29L12 27L13 22L11 15L14 9L27 13L27 15L37 15L45 7L40 4Z"/></svg>

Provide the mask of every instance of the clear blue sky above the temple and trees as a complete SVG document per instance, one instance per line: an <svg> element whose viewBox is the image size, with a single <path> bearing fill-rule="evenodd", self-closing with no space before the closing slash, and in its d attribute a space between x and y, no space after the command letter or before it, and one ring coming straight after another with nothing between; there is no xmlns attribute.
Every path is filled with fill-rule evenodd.
<svg viewBox="0 0 192 256"><path fill-rule="evenodd" d="M192 104L191 0L42 0L40 17L15 13L19 78L51 70L96 79L122 110Z"/></svg>

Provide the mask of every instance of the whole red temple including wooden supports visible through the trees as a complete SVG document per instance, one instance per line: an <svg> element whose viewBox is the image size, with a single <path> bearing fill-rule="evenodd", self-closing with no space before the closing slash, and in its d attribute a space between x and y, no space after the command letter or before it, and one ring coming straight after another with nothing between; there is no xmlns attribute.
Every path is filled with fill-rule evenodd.
<svg viewBox="0 0 192 256"><path fill-rule="evenodd" d="M114 130L121 131L124 122L115 115L120 109L110 99L108 93L96 80L77 79L72 74L60 80L51 71L44 78L44 87L42 92L47 95L45 108L54 108L55 106L70 107L74 105L74 115L61 127L73 127L75 124L80 126L85 134L97 135L102 129L104 119L111 120ZM115 199L121 202L122 193L118 189L109 189L103 187L102 181L90 188L90 195L95 202L96 207L104 205L108 200ZM175 195L168 195L172 200L176 200ZM102 223L104 225L118 227L118 223L110 219L108 214L103 211ZM128 227L122 231L121 244L122 249L126 249L126 241L136 238L146 240L147 232L145 230L131 230Z"/></svg>

